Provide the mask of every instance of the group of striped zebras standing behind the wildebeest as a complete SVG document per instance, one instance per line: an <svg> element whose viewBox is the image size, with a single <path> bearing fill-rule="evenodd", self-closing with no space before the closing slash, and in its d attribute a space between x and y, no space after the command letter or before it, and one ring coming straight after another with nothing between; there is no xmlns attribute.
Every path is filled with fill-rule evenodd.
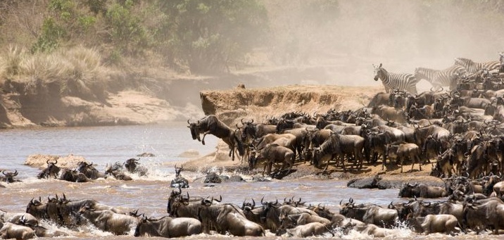
<svg viewBox="0 0 504 240"><path fill-rule="evenodd" d="M443 70L430 68L416 68L415 74L388 72L382 67L374 65L374 81L382 80L386 93L391 89L408 91L410 94L417 94L417 83L420 80L427 80L434 89L449 87L455 90L458 81L462 78L477 75L482 70L488 72L504 72L504 51L499 53L499 61L489 61L477 63L468 58L455 58L455 64Z"/></svg>

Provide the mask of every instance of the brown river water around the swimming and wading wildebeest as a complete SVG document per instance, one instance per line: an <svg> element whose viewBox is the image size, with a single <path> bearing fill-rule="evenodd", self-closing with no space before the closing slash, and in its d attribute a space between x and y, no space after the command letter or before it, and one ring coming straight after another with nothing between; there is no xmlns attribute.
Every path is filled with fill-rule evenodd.
<svg viewBox="0 0 504 240"><path fill-rule="evenodd" d="M168 196L172 191L170 181L175 178L173 163L187 160L179 157L181 153L194 149L201 155L215 151L217 140L213 136L206 137L206 145L191 139L186 127L187 123L172 122L163 125L138 125L118 127L72 127L72 128L44 128L37 130L0 130L0 170L18 170L18 179L23 182L15 184L1 183L0 209L8 212L25 212L27 203L32 198L46 199L48 196L65 194L70 200L93 198L100 203L136 210L151 217L167 215L166 206ZM83 156L93 162L96 168L103 171L106 164L119 161L123 163L128 158L134 158L139 153L149 152L153 157L141 158L142 165L149 169L149 177L134 178L130 182L122 182L113 178L97 179L94 182L73 183L56 179L37 179L39 169L23 165L32 154L51 154L67 156ZM222 169L215 169L220 172ZM233 173L223 172L223 175ZM240 174L234 172L234 174ZM190 196L222 196L222 202L236 203L241 206L243 201L256 204L260 199L265 201L283 201L284 198L301 198L306 204L323 206L337 213L339 202L353 198L356 203L376 203L387 206L391 201L407 201L398 198L398 189L353 189L346 187L346 180L315 179L305 177L296 180L272 180L271 182L253 182L252 176L241 175L246 182L229 182L222 184L204 184L201 180L203 172L182 172L189 179ZM57 227L50 222L42 222L44 227L55 230ZM68 239L134 239L133 232L128 236L113 236L102 232L94 226L83 226L78 230L60 228L71 237ZM444 234L430 234L424 236L415 234L405 227L398 227L397 234L387 236L386 239L504 239L504 237L484 234L462 234L460 236L446 236ZM199 234L187 239L228 239L232 236L220 234ZM313 237L325 239L332 236ZM267 236L260 239L287 239L287 236L275 236L267 232ZM372 236L351 232L345 236L335 236L342 239L372 239ZM253 237L233 237L233 239L259 239ZM292 239L292 238L289 238Z"/></svg>

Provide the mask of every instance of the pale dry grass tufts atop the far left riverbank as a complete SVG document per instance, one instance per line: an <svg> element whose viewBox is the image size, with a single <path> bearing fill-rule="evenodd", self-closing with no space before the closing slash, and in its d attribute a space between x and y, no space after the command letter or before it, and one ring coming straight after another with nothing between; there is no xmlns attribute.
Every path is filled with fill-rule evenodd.
<svg viewBox="0 0 504 240"><path fill-rule="evenodd" d="M92 96L94 85L106 80L106 68L96 49L75 46L52 53L29 53L19 46L9 46L0 58L1 80L25 82L25 92L37 86L56 83L62 95Z"/></svg>

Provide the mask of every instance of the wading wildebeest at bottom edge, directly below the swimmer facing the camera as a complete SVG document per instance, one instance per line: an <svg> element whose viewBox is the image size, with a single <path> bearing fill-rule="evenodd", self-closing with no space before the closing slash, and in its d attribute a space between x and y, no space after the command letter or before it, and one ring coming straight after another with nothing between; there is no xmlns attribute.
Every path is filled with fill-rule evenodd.
<svg viewBox="0 0 504 240"><path fill-rule="evenodd" d="M134 231L134 236L181 237L201 234L201 222L192 217L143 217Z"/></svg>

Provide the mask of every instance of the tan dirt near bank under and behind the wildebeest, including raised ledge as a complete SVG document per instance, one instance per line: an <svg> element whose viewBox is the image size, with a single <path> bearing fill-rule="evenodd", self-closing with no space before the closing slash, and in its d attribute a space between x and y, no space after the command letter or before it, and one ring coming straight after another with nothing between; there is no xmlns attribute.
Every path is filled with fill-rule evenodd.
<svg viewBox="0 0 504 240"><path fill-rule="evenodd" d="M227 89L205 90L200 92L203 112L217 115L227 125L239 125L243 120L264 122L267 118L279 117L283 113L301 111L304 113L325 113L329 109L355 110L367 105L374 94L381 89L378 87L343 87L332 85L289 85L259 89ZM201 144L195 141L194 144ZM240 158L231 160L228 156L229 149L222 141L216 146L215 153L207 156L187 160L184 169L193 171L211 171L216 168L228 172L246 172L251 175L262 174L263 168L249 171L246 160ZM351 165L351 163L347 163ZM349 168L349 166L347 166ZM379 175L383 188L398 188L404 183L427 183L429 185L443 186L443 181L437 177L429 176L432 165L422 165L422 170L415 165L405 165L403 173L395 163L382 170L382 163L364 163L363 169L351 168L343 172L341 168L329 166L327 172L322 172L309 163L296 163L294 172L284 179L310 177L315 179L348 179L351 187L359 187L370 182L370 178ZM361 180L362 179L362 180Z"/></svg>

